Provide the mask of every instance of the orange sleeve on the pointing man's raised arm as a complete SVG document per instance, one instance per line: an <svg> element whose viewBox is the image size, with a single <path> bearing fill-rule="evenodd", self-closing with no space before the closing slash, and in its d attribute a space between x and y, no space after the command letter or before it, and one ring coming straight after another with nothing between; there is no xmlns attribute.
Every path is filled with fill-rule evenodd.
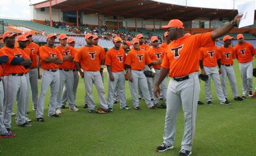
<svg viewBox="0 0 256 156"><path fill-rule="evenodd" d="M193 35L199 47L212 47L215 41L211 38L211 32Z"/></svg>

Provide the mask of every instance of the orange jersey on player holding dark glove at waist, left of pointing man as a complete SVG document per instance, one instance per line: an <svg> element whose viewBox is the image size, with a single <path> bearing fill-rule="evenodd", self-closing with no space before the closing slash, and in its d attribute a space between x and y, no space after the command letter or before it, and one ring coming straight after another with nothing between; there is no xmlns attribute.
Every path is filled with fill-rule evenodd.
<svg viewBox="0 0 256 156"><path fill-rule="evenodd" d="M124 64L131 66L133 70L143 70L145 64L150 64L152 60L145 50L132 49L128 52Z"/></svg>

